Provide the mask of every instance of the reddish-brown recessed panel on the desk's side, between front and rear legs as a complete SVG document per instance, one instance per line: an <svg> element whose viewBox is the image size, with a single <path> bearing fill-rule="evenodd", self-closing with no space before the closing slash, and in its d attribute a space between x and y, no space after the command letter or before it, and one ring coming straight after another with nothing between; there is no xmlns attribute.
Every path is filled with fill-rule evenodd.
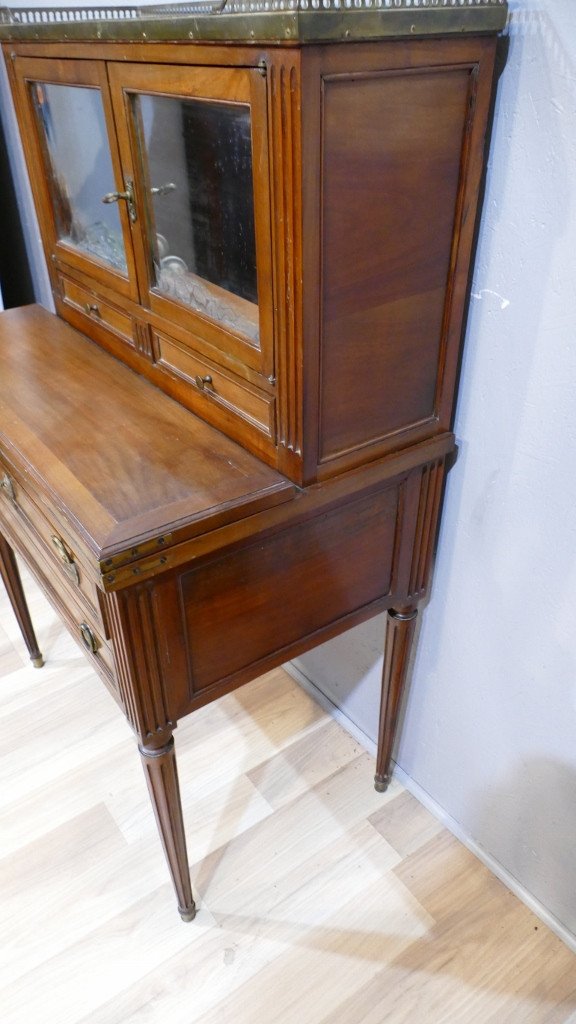
<svg viewBox="0 0 576 1024"><path fill-rule="evenodd" d="M394 486L184 574L192 692L385 596L397 509Z"/></svg>

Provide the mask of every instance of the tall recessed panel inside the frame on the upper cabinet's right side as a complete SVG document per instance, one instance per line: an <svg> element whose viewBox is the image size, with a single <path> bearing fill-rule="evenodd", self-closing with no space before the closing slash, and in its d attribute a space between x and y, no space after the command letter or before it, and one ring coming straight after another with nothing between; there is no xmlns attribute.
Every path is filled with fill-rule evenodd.
<svg viewBox="0 0 576 1024"><path fill-rule="evenodd" d="M474 81L324 79L321 462L435 420Z"/></svg>

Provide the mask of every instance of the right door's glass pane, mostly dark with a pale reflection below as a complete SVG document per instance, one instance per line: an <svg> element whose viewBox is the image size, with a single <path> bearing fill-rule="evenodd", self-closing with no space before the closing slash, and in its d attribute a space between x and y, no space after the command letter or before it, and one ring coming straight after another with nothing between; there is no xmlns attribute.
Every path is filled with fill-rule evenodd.
<svg viewBox="0 0 576 1024"><path fill-rule="evenodd" d="M136 95L155 288L258 339L250 109Z"/></svg>

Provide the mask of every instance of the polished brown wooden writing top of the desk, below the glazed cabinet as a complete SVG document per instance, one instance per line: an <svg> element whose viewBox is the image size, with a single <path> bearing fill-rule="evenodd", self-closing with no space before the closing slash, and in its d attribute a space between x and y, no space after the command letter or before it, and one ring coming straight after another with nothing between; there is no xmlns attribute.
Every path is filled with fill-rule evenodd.
<svg viewBox="0 0 576 1024"><path fill-rule="evenodd" d="M0 451L98 559L290 500L293 483L41 306L0 314Z"/></svg>

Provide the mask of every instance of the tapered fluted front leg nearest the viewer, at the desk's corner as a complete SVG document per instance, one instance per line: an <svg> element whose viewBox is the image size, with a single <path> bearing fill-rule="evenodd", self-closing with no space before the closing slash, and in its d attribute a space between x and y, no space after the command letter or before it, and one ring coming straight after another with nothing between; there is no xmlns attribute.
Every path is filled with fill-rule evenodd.
<svg viewBox="0 0 576 1024"><path fill-rule="evenodd" d="M176 769L174 739L158 750L138 746L160 838L176 890L182 921L193 921L196 906L192 897L186 848L182 807Z"/></svg>

